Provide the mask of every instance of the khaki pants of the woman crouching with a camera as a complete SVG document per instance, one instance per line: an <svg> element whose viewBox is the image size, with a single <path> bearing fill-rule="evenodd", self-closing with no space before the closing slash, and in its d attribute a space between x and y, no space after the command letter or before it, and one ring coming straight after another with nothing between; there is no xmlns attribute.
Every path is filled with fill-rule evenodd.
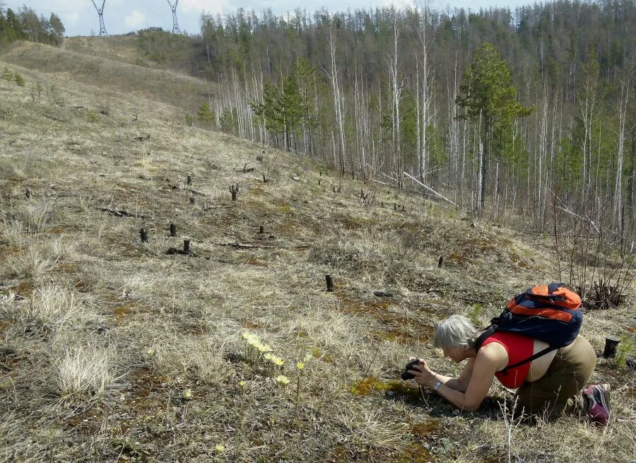
<svg viewBox="0 0 636 463"><path fill-rule="evenodd" d="M554 419L562 414L581 412L583 397L579 391L587 385L595 366L594 348L583 336L577 336L570 346L556 352L546 375L519 387L517 413L524 411Z"/></svg>

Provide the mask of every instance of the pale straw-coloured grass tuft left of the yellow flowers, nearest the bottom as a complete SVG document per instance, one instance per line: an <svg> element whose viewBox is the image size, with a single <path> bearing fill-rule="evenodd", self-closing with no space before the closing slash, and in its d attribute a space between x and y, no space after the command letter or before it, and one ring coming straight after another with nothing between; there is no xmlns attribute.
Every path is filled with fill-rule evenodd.
<svg viewBox="0 0 636 463"><path fill-rule="evenodd" d="M112 359L113 353L107 348L66 349L64 355L54 361L60 401L79 405L104 397L114 379Z"/></svg>

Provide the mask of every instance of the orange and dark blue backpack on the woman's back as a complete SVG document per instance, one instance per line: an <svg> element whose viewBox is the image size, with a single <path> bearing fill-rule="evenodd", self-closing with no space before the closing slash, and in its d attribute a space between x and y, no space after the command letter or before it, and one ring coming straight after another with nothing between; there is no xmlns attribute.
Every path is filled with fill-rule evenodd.
<svg viewBox="0 0 636 463"><path fill-rule="evenodd" d="M514 296L498 317L475 342L476 351L495 331L523 334L546 342L548 347L526 360L508 365L503 371L534 361L550 351L572 344L577 339L583 312L581 298L563 283L539 285Z"/></svg>

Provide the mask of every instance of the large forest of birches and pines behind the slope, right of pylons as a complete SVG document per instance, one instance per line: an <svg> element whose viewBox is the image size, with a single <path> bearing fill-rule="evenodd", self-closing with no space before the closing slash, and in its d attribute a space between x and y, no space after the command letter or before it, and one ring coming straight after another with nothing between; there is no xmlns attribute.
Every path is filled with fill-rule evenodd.
<svg viewBox="0 0 636 463"><path fill-rule="evenodd" d="M495 220L542 228L557 206L633 230L635 25L632 0L240 9L202 16L189 51L220 89L201 123L376 184L412 176Z"/></svg>

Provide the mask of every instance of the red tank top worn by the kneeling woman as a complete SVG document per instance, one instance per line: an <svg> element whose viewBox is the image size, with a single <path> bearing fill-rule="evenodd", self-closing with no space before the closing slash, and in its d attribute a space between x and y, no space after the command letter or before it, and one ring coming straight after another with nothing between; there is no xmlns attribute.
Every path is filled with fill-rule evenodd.
<svg viewBox="0 0 636 463"><path fill-rule="evenodd" d="M482 347L491 342L497 342L504 346L508 353L508 365L522 362L530 358L534 353L534 339L523 334L495 332L488 339L483 341ZM510 368L505 372L497 371L495 376L501 384L510 389L516 389L526 380L530 370L530 362L519 365L517 368Z"/></svg>

